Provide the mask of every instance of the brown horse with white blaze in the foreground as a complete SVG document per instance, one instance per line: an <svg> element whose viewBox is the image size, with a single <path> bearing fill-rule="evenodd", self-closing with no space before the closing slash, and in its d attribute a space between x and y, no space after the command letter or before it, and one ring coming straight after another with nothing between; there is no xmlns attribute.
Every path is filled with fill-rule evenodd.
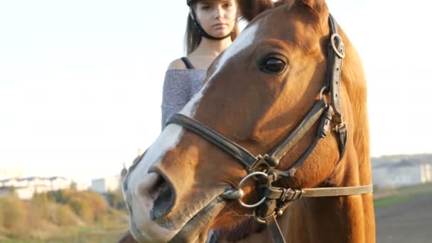
<svg viewBox="0 0 432 243"><path fill-rule="evenodd" d="M250 21L247 28L211 65L205 85L180 111L185 120L172 119L129 170L123 189L131 234L139 242L270 242L274 228L260 222L271 225L279 215L287 242L375 242L369 191L296 195L307 195L308 188L372 183L366 82L355 48L338 27L333 32L339 41L330 37L333 28L323 0L244 0L239 6ZM343 51L329 45L342 42ZM330 52L335 57L329 58ZM344 55L342 73L340 65L334 69L337 87L330 89L329 63ZM305 121L316 104L324 104L319 121L325 122ZM329 124L336 129L315 142L317 131ZM302 136L281 143L297 130ZM291 145L277 163L258 156L252 158L265 163L248 164L251 154L267 155L281 144ZM237 152L250 153L237 158ZM248 179L254 171L261 174ZM254 204L263 191L263 204L249 208L239 203ZM271 191L282 193L271 199ZM286 199L288 192L293 197Z"/></svg>

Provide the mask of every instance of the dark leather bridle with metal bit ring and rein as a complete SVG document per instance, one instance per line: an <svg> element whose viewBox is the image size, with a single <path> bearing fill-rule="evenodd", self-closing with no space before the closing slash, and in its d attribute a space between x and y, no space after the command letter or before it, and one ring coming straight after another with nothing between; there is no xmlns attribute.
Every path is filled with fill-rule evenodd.
<svg viewBox="0 0 432 243"><path fill-rule="evenodd" d="M320 90L320 98L297 126L289 132L275 148L269 151L269 153L262 156L254 156L247 151L246 148L239 146L221 134L218 134L217 131L183 114L174 114L166 123L167 125L178 124L185 127L185 129L193 131L195 134L210 141L210 143L221 148L244 165L248 174L240 181L237 189L227 190L225 193L222 193L221 197L227 200L238 200L239 204L243 207L255 208L253 215L255 220L265 223L269 227L274 242L285 242L284 236L276 221L276 216L282 215L284 210L295 200L304 197L334 197L372 193L372 185L305 189L284 188L272 185L272 183L282 178L294 178L297 169L312 153L313 149L318 144L318 140L329 134L332 124L334 124L333 131L337 134L340 153L339 161L345 153L347 125L342 119L343 113L340 103L340 77L342 72L342 59L345 58L345 45L338 34L338 26L335 18L333 18L331 14L329 15L328 21L330 26L328 68L325 85ZM330 93L330 104L326 103L323 99L325 93ZM284 157L317 122L319 122L318 131L312 144L291 168L287 171L278 170L276 167L279 165L281 158ZM249 180L249 178L254 178L254 180L257 181L257 187L262 197L259 202L253 205L248 205L242 201L242 196L244 194L242 185Z"/></svg>

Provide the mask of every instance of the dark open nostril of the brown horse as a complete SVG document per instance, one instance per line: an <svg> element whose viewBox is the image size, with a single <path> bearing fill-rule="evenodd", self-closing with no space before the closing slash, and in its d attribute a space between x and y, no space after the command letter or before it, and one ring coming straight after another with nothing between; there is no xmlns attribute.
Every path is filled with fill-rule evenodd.
<svg viewBox="0 0 432 243"><path fill-rule="evenodd" d="M152 220L156 220L171 211L174 205L173 188L161 175L158 175L156 183L149 188L148 195L153 200L153 209L150 212Z"/></svg>

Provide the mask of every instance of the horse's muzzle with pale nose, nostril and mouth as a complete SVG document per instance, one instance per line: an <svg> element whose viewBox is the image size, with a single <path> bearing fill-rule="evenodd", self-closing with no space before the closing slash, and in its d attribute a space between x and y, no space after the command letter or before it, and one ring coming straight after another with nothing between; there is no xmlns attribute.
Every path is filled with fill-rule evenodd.
<svg viewBox="0 0 432 243"><path fill-rule="evenodd" d="M220 196L227 188L178 187L154 171L139 179L132 171L126 181L133 237L139 242L205 242L212 221L227 204Z"/></svg>

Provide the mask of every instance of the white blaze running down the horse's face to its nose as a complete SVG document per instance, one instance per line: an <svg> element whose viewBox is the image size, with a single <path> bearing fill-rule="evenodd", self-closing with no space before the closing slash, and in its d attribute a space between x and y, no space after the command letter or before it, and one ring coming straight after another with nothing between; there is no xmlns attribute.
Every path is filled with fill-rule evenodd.
<svg viewBox="0 0 432 243"><path fill-rule="evenodd" d="M254 24L254 26L250 26L244 30L237 37L234 43L232 43L232 45L230 45L229 48L225 50L220 59L217 61L215 65L215 72L210 77L209 82L207 82L204 87L202 87L200 91L190 99L185 107L180 110L180 114L193 117L196 107L198 107L200 100L204 96L205 90L207 90L207 87L212 81L212 77L220 72L227 60L233 58L235 55L237 55L237 53L254 43L258 27L259 23L257 22ZM169 241L175 236L175 234L178 233L178 231L170 231L160 227L151 220L150 210L153 206L153 202L145 202L145 200L143 200L142 196L140 195L142 192L139 190L140 185L151 183L151 181L154 180L154 176L152 177L148 175L148 168L150 168L154 163L157 163L163 157L166 151L177 146L181 136L183 136L183 131L183 127L177 124L170 124L166 126L161 135L158 136L158 139L156 139L151 147L148 148L139 165L136 166L134 171L131 171L131 174L129 175L128 189L126 190L126 200L128 201L128 204L134 213L134 217L131 218L131 220L134 220L136 229L139 231L144 240L152 240L153 242Z"/></svg>

